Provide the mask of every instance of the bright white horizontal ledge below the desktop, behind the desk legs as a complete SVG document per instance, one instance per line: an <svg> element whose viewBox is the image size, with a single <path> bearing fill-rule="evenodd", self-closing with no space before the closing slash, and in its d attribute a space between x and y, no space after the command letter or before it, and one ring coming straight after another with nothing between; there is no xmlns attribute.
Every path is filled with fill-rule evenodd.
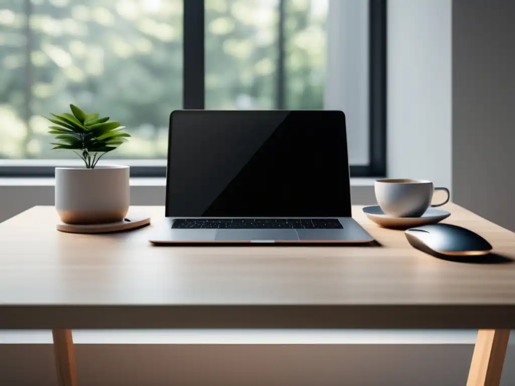
<svg viewBox="0 0 515 386"><path fill-rule="evenodd" d="M77 344L474 344L473 330L74 330ZM49 344L49 330L0 330L0 344ZM515 343L512 343L515 344Z"/></svg>

